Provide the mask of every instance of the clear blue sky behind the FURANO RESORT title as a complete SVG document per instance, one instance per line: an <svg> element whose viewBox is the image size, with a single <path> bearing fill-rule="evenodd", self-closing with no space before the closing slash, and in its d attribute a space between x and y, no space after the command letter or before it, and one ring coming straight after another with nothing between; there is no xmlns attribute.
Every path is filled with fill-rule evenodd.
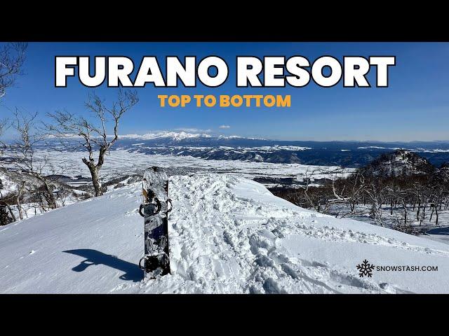
<svg viewBox="0 0 449 336"><path fill-rule="evenodd" d="M220 87L138 88L138 106L123 117L122 134L152 130L198 129L248 137L297 140L431 141L449 139L449 43L30 43L25 75L8 90L0 115L17 106L48 112L66 109L85 114L88 92L111 102L116 89L83 87L77 77L67 88L54 87L55 55L126 55L139 64L145 55L219 55L229 64L229 78ZM302 55L313 62L321 55L395 55L387 88L306 87L236 88L236 55ZM160 62L163 68L164 62ZM368 80L375 83L375 71ZM159 107L158 94L290 94L285 108ZM220 125L229 125L220 129Z"/></svg>

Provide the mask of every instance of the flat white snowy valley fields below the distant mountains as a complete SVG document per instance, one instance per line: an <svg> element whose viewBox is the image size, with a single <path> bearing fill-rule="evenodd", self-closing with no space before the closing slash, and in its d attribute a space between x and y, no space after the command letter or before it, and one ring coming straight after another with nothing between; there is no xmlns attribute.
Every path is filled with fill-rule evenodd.
<svg viewBox="0 0 449 336"><path fill-rule="evenodd" d="M95 158L98 153L95 153ZM86 165L81 162L81 158L85 157L84 152L59 152L59 151L37 151L36 158L48 158L46 174L64 174L66 176L90 177L90 173ZM168 169L168 173L188 174L194 172L216 172L226 173L235 176L241 176L253 179L257 176L267 176L271 178L288 178L300 176L302 181L304 172L313 170L320 171L314 174L314 178L322 179L328 177L328 172L333 172L339 167L323 167L310 166L300 164L287 163L267 163L267 162L245 162L239 160L206 160L202 158L194 158L192 156L180 155L147 155L128 151L119 148L110 151L105 159L100 174L102 180L109 181L117 176L125 176L127 174L142 175L147 167L159 166ZM13 168L13 165L5 165L5 167ZM354 169L345 169L344 174L349 174Z"/></svg>

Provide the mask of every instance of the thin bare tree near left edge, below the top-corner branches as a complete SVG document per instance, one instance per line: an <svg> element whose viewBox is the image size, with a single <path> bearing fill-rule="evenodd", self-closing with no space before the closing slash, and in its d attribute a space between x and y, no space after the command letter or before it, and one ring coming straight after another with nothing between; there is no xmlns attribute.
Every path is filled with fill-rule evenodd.
<svg viewBox="0 0 449 336"><path fill-rule="evenodd" d="M36 127L35 120L37 113L24 114L16 109L14 116L15 118L12 127L18 133L18 138L8 146L8 148L11 149L11 156L14 158L13 163L20 172L29 174L42 183L48 207L50 209L55 209L58 206L55 197L53 196L51 183L44 175L46 169L50 166L48 156L41 155L39 158L36 157L36 147L39 146L46 137L46 134ZM25 188L25 186L22 184L22 192L23 188ZM20 201L20 195L18 201Z"/></svg>

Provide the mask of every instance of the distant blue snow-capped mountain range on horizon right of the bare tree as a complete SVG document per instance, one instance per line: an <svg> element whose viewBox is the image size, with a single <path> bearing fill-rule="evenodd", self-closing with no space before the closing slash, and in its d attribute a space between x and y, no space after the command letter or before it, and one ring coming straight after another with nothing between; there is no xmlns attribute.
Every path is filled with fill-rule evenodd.
<svg viewBox="0 0 449 336"><path fill-rule="evenodd" d="M300 163L363 167L382 153L398 149L419 153L439 167L449 162L448 142L280 141L201 132L154 132L121 136L121 148L146 154L182 155L207 160Z"/></svg>

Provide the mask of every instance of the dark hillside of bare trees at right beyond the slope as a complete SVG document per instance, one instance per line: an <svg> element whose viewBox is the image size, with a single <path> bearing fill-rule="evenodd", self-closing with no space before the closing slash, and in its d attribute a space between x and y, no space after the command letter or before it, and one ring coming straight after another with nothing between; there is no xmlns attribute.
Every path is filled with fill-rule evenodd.
<svg viewBox="0 0 449 336"><path fill-rule="evenodd" d="M314 186L307 172L302 188L272 188L274 195L300 207L340 218L366 219L419 235L429 226L448 225L449 164L440 167L416 153L384 153L347 177Z"/></svg>

